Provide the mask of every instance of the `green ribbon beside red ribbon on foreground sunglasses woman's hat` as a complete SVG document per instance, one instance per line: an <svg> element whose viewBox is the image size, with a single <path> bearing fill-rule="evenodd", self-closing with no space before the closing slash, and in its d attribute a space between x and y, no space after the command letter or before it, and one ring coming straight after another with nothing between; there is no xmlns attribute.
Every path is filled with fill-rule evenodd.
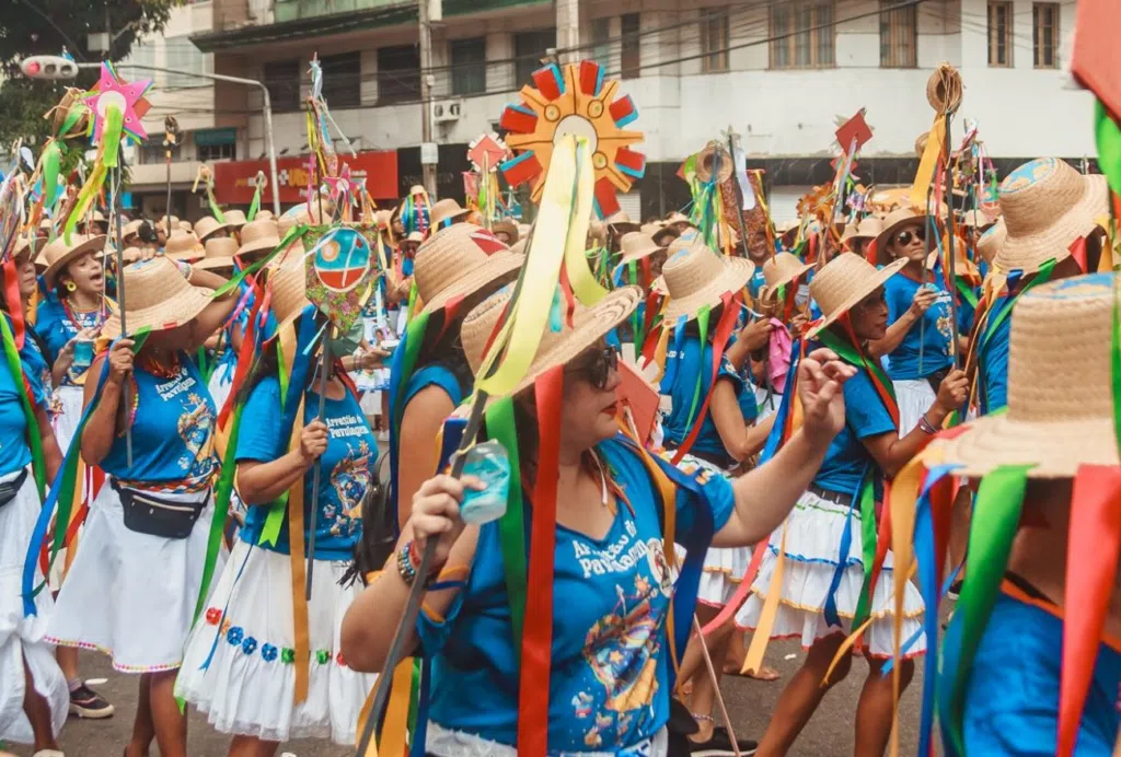
<svg viewBox="0 0 1121 757"><path fill-rule="evenodd" d="M510 600L513 645L520 649L521 630L526 624L526 515L512 396L504 396L487 408L487 436L502 445L510 457L510 490L506 498L506 513L498 520L498 532L506 592Z"/></svg>

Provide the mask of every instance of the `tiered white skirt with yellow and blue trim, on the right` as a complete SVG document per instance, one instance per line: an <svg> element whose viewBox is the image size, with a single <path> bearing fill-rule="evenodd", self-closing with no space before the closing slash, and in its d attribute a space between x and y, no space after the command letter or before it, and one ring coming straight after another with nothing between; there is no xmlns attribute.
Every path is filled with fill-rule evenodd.
<svg viewBox="0 0 1121 757"><path fill-rule="evenodd" d="M786 520L786 557L782 566L782 583L779 595L778 614L771 628L771 638L802 638L802 645L809 647L819 638L844 630L850 633L860 589L864 582L864 564L861 559L860 511L852 514L852 543L836 591L837 615L842 628L828 627L825 622L825 602L828 598L833 573L840 560L841 535L844 533L849 507L839 505L817 495L805 492ZM770 588L775 572L782 526L770 536L763 554L759 576L751 585L751 594L735 615L736 625L754 630L759 625L763 600ZM902 638L906 642L921 627L923 597L910 581L907 581L904 597ZM890 657L895 617L895 576L892 555L889 551L883 561L879 580L872 596L872 625L864 633L861 649L873 657ZM926 638L920 636L907 651L905 657L912 657L926 651Z"/></svg>

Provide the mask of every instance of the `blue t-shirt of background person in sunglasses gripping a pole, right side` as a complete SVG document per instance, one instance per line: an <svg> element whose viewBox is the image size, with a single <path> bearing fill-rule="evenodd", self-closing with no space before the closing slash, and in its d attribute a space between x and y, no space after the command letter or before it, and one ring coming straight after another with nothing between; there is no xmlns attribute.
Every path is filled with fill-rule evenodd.
<svg viewBox="0 0 1121 757"><path fill-rule="evenodd" d="M919 321L911 324L904 340L888 355L891 362L891 378L895 381L923 378L947 368L954 363L953 353L949 351L949 342L954 333L949 293L938 277L934 277L934 281L930 283L937 287L939 297L924 316L926 328L924 329ZM889 324L896 323L907 312L919 287L921 287L919 282L902 273L896 273L884 282L883 293L888 300ZM921 345L925 345L925 348L921 351L923 370L920 372L918 358Z"/></svg>

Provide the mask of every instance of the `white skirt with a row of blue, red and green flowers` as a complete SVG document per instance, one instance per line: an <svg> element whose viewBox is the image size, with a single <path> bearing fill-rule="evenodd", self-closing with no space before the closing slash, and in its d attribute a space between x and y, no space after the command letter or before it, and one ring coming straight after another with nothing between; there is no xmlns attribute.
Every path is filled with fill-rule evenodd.
<svg viewBox="0 0 1121 757"><path fill-rule="evenodd" d="M243 541L234 545L187 641L175 693L207 713L211 726L222 733L265 741L330 738L352 746L362 705L378 680L372 673L352 671L339 652L343 616L362 585L340 586L348 562L315 561L307 608L312 648L307 700L295 705L289 560Z"/></svg>

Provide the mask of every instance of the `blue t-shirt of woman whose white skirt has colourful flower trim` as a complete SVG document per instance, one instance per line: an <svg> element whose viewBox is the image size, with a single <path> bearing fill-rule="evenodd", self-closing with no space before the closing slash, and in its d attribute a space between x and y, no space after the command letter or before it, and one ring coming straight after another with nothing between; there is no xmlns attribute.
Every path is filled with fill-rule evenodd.
<svg viewBox="0 0 1121 757"><path fill-rule="evenodd" d="M308 391L304 401L304 423L315 420L319 395ZM358 400L348 391L341 400L327 398L323 405L323 422L327 424L327 451L321 457L319 508L315 525L315 557L319 560L350 560L354 543L362 535L362 498L373 483L378 443ZM280 428L280 381L276 376L261 380L241 415L238 436L238 461L271 462L288 451L288 438ZM312 523L312 485L308 469L304 476L304 543L309 544ZM256 544L268 517L269 507L250 507L245 515L243 541ZM288 522L280 529L275 545L266 549L288 554ZM305 549L307 549L305 546Z"/></svg>

